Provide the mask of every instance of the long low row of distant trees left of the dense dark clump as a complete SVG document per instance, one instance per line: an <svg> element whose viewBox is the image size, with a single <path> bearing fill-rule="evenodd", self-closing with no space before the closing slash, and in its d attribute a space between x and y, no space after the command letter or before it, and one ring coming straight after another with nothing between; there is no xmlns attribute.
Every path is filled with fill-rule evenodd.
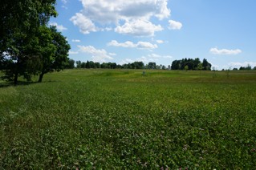
<svg viewBox="0 0 256 170"><path fill-rule="evenodd" d="M143 62L133 62L133 63L125 63L125 64L116 64L116 63L99 63L99 62L93 62L88 61L87 62L81 62L81 61L75 61L73 59L69 59L69 64L66 68L72 69L72 68L107 68L107 69L162 69L165 70L167 67L164 65L156 65L154 62L149 62L148 64L144 64ZM168 67L171 68L170 66Z"/></svg>

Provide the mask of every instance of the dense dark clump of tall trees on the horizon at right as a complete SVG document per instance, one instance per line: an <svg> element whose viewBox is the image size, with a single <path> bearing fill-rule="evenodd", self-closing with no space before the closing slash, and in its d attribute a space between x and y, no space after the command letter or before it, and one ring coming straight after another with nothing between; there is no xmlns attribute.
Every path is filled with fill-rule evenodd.
<svg viewBox="0 0 256 170"><path fill-rule="evenodd" d="M180 59L174 60L171 66L172 70L203 70L210 71L212 64L203 59L201 62L199 58L196 59Z"/></svg>

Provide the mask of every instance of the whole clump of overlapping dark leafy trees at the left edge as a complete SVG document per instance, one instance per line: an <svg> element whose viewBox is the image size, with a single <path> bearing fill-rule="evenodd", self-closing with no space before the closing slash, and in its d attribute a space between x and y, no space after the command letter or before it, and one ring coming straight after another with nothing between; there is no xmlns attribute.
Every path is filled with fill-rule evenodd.
<svg viewBox="0 0 256 170"><path fill-rule="evenodd" d="M0 69L2 79L18 83L63 68L69 45L54 27L55 0L2 0L0 6ZM43 77L42 77L43 78ZM41 79L42 81L42 79Z"/></svg>

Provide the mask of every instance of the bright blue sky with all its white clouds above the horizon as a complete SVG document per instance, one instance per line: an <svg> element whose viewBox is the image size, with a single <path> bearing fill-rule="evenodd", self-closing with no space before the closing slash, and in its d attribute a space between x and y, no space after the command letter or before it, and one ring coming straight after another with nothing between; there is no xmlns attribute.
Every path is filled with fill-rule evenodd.
<svg viewBox="0 0 256 170"><path fill-rule="evenodd" d="M82 62L207 59L218 70L256 66L255 0L58 0L51 25Z"/></svg>

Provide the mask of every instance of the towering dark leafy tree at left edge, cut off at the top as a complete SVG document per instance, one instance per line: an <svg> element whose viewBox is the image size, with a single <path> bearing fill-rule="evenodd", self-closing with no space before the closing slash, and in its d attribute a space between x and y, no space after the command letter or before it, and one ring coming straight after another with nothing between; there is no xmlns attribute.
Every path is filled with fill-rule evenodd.
<svg viewBox="0 0 256 170"><path fill-rule="evenodd" d="M56 15L55 0L1 0L0 66L14 84L19 75L30 75L31 60L39 61L36 33Z"/></svg>

